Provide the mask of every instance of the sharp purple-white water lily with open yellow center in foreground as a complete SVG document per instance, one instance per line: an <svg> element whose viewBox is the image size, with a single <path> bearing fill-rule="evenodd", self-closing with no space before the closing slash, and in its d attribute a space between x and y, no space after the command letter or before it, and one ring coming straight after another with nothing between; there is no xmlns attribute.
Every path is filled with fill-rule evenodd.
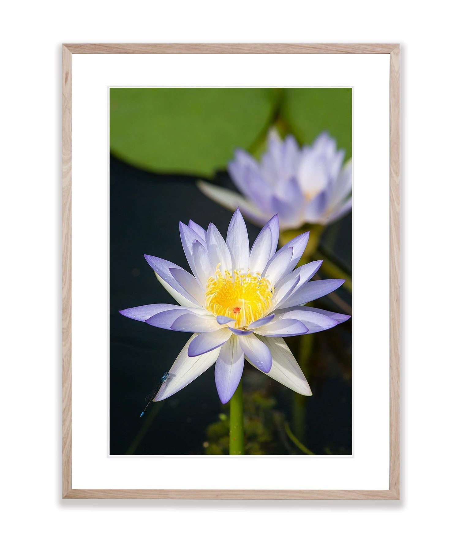
<svg viewBox="0 0 459 551"><path fill-rule="evenodd" d="M161 385L155 401L173 395L215 364L215 383L223 403L241 379L246 358L255 368L295 392L310 387L283 337L330 329L349 318L304 306L337 289L343 279L311 281L321 262L295 268L309 232L276 252L277 215L249 248L237 209L226 241L213 224L206 230L190 220L180 236L191 272L145 255L159 282L178 304L148 304L121 310L123 316L154 327L193 333Z"/></svg>

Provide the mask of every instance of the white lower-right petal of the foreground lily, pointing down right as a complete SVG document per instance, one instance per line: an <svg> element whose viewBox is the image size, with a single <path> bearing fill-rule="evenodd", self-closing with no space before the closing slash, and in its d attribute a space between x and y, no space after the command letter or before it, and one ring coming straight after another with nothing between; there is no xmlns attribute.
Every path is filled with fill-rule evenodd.
<svg viewBox="0 0 459 551"><path fill-rule="evenodd" d="M267 345L273 358L273 365L267 375L299 394L311 396L312 392L306 381L306 377L284 339L281 337L261 336L258 338ZM257 366L255 365L255 367Z"/></svg>

